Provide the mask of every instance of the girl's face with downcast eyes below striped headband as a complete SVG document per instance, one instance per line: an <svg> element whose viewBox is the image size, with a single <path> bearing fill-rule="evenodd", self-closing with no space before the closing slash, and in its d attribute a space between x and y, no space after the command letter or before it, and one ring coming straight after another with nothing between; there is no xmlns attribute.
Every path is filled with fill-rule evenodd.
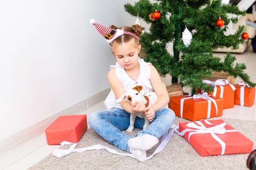
<svg viewBox="0 0 256 170"><path fill-rule="evenodd" d="M112 44L112 50L117 62L125 69L131 69L138 64L140 49L141 45L137 45L134 38L123 44L117 44L115 42Z"/></svg>

